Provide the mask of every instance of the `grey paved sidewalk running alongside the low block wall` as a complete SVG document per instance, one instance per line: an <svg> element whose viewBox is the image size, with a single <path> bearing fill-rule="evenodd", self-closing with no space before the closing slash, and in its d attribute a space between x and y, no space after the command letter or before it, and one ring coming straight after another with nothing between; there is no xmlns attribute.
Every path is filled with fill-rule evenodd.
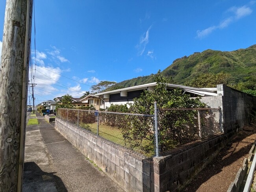
<svg viewBox="0 0 256 192"><path fill-rule="evenodd" d="M38 112L36 116L39 125L26 127L24 192L123 191L59 134L54 123Z"/></svg>

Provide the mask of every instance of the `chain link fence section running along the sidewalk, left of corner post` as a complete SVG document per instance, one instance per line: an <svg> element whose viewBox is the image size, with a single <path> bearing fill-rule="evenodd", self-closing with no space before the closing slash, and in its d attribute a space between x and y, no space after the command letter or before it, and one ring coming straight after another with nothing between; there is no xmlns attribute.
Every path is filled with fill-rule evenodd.
<svg viewBox="0 0 256 192"><path fill-rule="evenodd" d="M58 109L57 118L144 156L154 152L154 115Z"/></svg>

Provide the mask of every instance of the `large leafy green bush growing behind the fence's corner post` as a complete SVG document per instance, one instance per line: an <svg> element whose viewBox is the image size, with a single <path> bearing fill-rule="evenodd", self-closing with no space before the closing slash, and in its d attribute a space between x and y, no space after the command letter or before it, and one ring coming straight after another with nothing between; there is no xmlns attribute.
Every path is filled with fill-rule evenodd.
<svg viewBox="0 0 256 192"><path fill-rule="evenodd" d="M130 112L138 114L154 114L154 101L157 101L158 109L165 108L202 108L205 103L200 102L200 97L191 99L189 95L182 94L182 90L166 89L167 78L160 74L154 76L158 83L154 91L144 91L139 98L134 99L130 106ZM182 145L185 141L195 140L198 133L195 124L197 112L195 110L163 111L159 113L159 135L161 150L169 149L172 145ZM142 142L143 139L154 141L153 125L149 121L133 119L129 126L122 130L125 139L130 143L135 140ZM139 135L139 137L138 137ZM137 141L136 141L137 139Z"/></svg>

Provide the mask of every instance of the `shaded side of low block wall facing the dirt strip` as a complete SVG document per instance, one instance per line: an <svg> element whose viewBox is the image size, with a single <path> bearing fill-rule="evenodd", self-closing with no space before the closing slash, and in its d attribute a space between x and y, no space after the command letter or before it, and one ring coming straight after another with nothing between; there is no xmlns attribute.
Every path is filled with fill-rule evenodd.
<svg viewBox="0 0 256 192"><path fill-rule="evenodd" d="M227 135L179 147L167 156L154 157L155 191L180 191L226 145Z"/></svg>

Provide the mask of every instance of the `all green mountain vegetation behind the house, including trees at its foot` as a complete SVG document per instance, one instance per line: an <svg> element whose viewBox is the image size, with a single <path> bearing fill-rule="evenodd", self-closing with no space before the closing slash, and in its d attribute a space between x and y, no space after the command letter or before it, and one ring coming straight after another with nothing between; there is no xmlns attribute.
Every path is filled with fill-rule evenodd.
<svg viewBox="0 0 256 192"><path fill-rule="evenodd" d="M236 51L196 52L173 61L161 74L169 83L215 87L219 83L256 95L256 45ZM116 83L111 90L154 82L152 75Z"/></svg>

